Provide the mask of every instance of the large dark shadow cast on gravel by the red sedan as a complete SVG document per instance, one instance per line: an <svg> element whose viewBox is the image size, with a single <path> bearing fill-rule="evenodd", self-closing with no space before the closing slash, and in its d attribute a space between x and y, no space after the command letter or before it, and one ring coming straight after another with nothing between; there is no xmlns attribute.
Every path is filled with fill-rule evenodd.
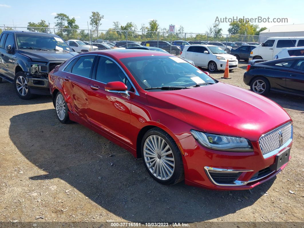
<svg viewBox="0 0 304 228"><path fill-rule="evenodd" d="M132 222L193 223L238 213L264 197L261 192L275 180L251 191L211 191L183 182L158 184L140 159L79 124L61 124L54 109L13 116L9 135L27 160L48 173L31 180L60 178L100 207ZM54 185L43 183L47 189ZM56 190L64 192L56 183ZM85 201L73 195L64 201L71 205Z"/></svg>

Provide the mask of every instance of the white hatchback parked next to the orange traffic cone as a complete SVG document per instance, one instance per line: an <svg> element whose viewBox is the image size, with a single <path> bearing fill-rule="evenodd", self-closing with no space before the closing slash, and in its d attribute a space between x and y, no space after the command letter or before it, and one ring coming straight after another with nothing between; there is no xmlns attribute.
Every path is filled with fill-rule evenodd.
<svg viewBox="0 0 304 228"><path fill-rule="evenodd" d="M190 59L195 66L208 68L211 72L225 70L228 60L229 69L236 69L237 58L215 45L185 45L181 58Z"/></svg>

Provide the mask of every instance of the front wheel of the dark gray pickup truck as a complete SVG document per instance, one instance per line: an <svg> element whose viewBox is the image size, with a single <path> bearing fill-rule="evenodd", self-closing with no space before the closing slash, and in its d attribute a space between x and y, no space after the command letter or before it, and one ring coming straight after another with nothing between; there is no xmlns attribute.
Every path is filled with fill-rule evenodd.
<svg viewBox="0 0 304 228"><path fill-rule="evenodd" d="M27 85L26 76L23 71L19 71L14 80L14 87L17 95L23 100L29 100L33 97L29 86Z"/></svg>

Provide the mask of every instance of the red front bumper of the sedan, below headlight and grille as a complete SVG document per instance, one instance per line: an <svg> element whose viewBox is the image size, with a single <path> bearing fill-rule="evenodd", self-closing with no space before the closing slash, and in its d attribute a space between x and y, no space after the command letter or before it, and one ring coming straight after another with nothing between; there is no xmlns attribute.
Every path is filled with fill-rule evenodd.
<svg viewBox="0 0 304 228"><path fill-rule="evenodd" d="M252 142L253 152L224 152L207 149L201 146L192 136L179 140L185 169L185 183L197 187L217 190L251 189L275 177L286 165L279 170L271 170L276 155L264 159L258 142ZM291 148L292 142L285 148ZM284 148L284 149L285 149ZM279 153L281 153L282 149ZM290 157L289 157L290 159ZM219 184L212 179L209 171L240 172L233 183ZM264 175L262 170L266 170ZM257 174L262 173L260 176ZM214 178L214 176L213 176Z"/></svg>

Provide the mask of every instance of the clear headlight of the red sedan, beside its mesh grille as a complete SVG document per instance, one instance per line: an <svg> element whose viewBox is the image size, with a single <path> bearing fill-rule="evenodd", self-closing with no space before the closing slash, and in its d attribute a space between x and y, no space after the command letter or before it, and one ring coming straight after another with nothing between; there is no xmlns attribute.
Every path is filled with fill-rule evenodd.
<svg viewBox="0 0 304 228"><path fill-rule="evenodd" d="M195 130L190 131L193 137L204 147L214 150L251 152L253 147L248 139L224 135L214 135Z"/></svg>

